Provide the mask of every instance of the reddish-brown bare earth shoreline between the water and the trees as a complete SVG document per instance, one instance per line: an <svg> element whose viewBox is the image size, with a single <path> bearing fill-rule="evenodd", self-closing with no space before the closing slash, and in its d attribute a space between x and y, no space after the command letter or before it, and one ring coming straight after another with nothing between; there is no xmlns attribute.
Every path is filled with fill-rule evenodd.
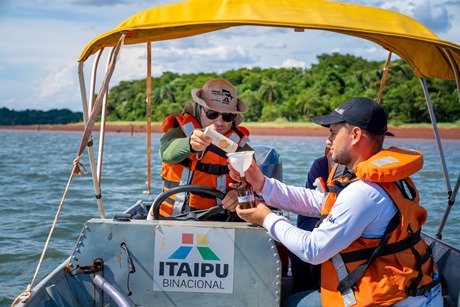
<svg viewBox="0 0 460 307"><path fill-rule="evenodd" d="M245 125L243 125L245 126ZM318 136L327 137L328 129L323 127L310 126L246 126L252 135L275 135L275 136ZM18 126L0 126L0 130L15 130L15 131L73 131L83 132L82 124L67 124L67 125L18 125ZM99 131L99 125L95 125L95 131ZM106 125L107 132L115 133L145 133L146 124L117 124L108 123ZM391 127L389 131L394 133L397 138L416 138L416 139L434 139L433 130L429 127ZM152 124L153 133L162 133L161 125L158 123ZM439 134L442 139L460 139L460 128L439 128Z"/></svg>

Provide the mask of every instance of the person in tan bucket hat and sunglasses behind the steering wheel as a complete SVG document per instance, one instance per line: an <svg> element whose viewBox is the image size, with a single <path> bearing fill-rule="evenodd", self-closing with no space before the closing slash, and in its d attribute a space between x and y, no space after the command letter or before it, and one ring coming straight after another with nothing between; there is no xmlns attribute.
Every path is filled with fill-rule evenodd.
<svg viewBox="0 0 460 307"><path fill-rule="evenodd" d="M192 101L185 105L180 115L170 115L162 123L163 191L191 184L225 193L232 182L225 151L228 148L211 143L211 137L204 130L209 127L229 138L237 144L237 151L252 150L248 144L249 131L240 126L248 106L238 97L235 86L222 78L210 79L202 88L192 89L191 97ZM223 201L233 199L228 196ZM171 196L161 204L160 215L176 215L187 208L208 209L218 202L220 200L196 193L187 197Z"/></svg>

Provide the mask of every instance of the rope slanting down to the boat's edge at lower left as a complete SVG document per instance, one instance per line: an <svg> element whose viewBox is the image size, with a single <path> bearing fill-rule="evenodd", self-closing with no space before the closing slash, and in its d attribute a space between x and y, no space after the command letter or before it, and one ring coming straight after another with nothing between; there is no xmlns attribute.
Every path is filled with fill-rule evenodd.
<svg viewBox="0 0 460 307"><path fill-rule="evenodd" d="M54 217L53 224L51 225L50 232L48 233L48 237L46 238L45 246L43 247L43 251L40 256L40 260L38 261L37 268L35 269L34 276L32 277L32 281L30 282L30 284L27 285L26 290L22 292L20 295L18 295L18 297L16 297L16 299L13 301L11 306L15 306L20 300L22 301L27 300L32 295L32 286L35 282L35 279L37 278L38 272L40 271L40 267L42 265L43 259L45 258L45 254L48 249L48 245L51 240L51 236L53 235L54 229L56 228L57 221L59 219L59 216L61 215L62 207L64 205L64 200L67 196L67 192L69 191L70 183L72 182L73 176L77 174L77 170L80 171L80 167L84 169L83 165L80 163L80 157L76 157L75 160L73 160L73 167L72 167L72 171L70 172L69 180L67 181L67 185L64 190L64 194L62 195L61 201L59 203L58 210Z"/></svg>

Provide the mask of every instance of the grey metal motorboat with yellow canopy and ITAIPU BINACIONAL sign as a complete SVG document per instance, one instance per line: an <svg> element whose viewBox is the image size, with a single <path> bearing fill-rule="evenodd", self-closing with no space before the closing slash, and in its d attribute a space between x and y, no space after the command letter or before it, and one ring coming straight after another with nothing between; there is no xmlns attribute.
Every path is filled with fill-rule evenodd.
<svg viewBox="0 0 460 307"><path fill-rule="evenodd" d="M81 52L78 78L85 129L37 270L31 284L13 305L283 306L292 281L283 273L279 246L263 228L243 222L207 220L221 212L221 207L183 212L167 220L148 218L150 210L155 211L165 193L154 201L133 200L133 205L126 211L109 218L100 197L106 98L122 46L146 46L146 108L150 114L152 43L206 35L228 28L238 31L240 26L282 27L295 32L325 30L358 37L376 43L389 55L396 54L410 65L425 94L439 149L439 163L444 171L444 177L439 179L445 183L439 187L446 187L444 193L448 199L437 233L424 233L423 237L430 244L447 285L443 292L445 305L459 304L460 271L456 268L460 264L460 250L444 242L442 233L455 203L460 176L452 185L426 78L455 80L459 92L460 46L439 39L408 16L362 5L324 0L189 0L141 11L94 38ZM106 50L109 61L102 73L103 78L98 79L100 58ZM83 67L90 58L94 59L94 64L88 90ZM96 91L98 80L102 81ZM96 96L96 92L99 95ZM99 117L101 125L96 157L96 150L91 145ZM147 116L147 194L151 185L150 124ZM66 192L72 177L80 171L80 157L86 150L100 217L91 218L83 225L71 255L36 282ZM282 164L276 149L262 146L255 151L266 174L281 179ZM174 192L195 189L206 190L199 186L185 186ZM215 191L204 192L222 197L222 193Z"/></svg>

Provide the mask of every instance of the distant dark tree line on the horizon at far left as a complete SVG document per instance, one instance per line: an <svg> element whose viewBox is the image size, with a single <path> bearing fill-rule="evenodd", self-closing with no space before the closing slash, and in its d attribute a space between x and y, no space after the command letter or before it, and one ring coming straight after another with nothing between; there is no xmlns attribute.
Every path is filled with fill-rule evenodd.
<svg viewBox="0 0 460 307"><path fill-rule="evenodd" d="M82 112L72 112L68 109L14 111L0 108L0 125L2 126L69 124L81 121L83 121Z"/></svg>

